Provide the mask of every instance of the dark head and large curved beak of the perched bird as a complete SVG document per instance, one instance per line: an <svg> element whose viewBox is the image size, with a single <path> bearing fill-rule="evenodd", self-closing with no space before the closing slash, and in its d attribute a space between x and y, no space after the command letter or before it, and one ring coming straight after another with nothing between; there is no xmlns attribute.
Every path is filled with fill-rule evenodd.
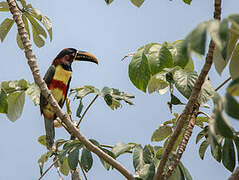
<svg viewBox="0 0 239 180"><path fill-rule="evenodd" d="M98 64L98 60L94 55L86 51L80 51L74 48L66 48L56 56L52 62L52 65L71 65L73 61L89 61Z"/></svg>

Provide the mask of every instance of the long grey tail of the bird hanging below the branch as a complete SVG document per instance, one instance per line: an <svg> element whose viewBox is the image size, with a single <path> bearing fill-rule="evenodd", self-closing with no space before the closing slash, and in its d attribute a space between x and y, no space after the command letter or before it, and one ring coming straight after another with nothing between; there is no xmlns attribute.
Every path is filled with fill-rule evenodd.
<svg viewBox="0 0 239 180"><path fill-rule="evenodd" d="M54 138L55 138L54 121L47 118L44 118L44 120L45 120L45 129L46 129L46 146L48 149L51 149L54 144Z"/></svg>

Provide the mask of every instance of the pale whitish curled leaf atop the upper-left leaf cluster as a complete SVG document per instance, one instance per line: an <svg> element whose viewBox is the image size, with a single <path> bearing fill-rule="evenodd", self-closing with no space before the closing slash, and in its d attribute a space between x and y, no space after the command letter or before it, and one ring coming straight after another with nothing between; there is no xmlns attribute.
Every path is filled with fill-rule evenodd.
<svg viewBox="0 0 239 180"><path fill-rule="evenodd" d="M42 23L42 25L46 28L46 30L49 34L49 37L50 37L50 41L52 41L52 22L51 22L51 20L47 16L43 15L39 9L32 8L30 13L33 17L35 17L37 20L39 20Z"/></svg>

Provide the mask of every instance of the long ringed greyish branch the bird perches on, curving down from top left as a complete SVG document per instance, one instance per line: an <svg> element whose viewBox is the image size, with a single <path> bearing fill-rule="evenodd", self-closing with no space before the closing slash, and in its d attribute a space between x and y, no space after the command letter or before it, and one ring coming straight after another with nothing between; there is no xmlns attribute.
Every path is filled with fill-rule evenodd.
<svg viewBox="0 0 239 180"><path fill-rule="evenodd" d="M134 180L133 175L123 165L121 165L118 161L113 159L108 154L104 153L101 149L99 149L97 146L92 144L85 136L83 136L79 132L79 129L76 128L74 126L74 124L70 121L69 115L62 111L62 109L60 108L60 106L58 105L58 103L56 102L54 97L52 96L51 92L47 88L47 85L46 85L45 81L42 79L42 77L40 75L40 70L39 70L38 65L37 65L36 56L32 51L32 45L31 45L31 42L29 40L28 33L24 28L24 23L23 23L22 18L21 18L21 12L17 8L16 1L15 0L7 0L7 2L8 2L8 5L9 5L9 9L10 9L12 15L13 15L13 19L17 24L18 33L21 37L21 40L22 40L22 43L23 43L23 46L24 46L24 50L25 50L25 56L28 60L27 62L28 62L28 65L31 69L34 81L39 86L39 88L40 88L42 94L44 95L44 97L47 98L48 102L53 107L57 116L65 123L65 125L67 126L69 131L75 137L77 137L82 142L82 144L85 145L85 147L87 149L89 149L90 151L95 153L97 156L99 156L99 158L103 159L104 161L106 161L107 163L112 165L115 169L117 169L127 179Z"/></svg>

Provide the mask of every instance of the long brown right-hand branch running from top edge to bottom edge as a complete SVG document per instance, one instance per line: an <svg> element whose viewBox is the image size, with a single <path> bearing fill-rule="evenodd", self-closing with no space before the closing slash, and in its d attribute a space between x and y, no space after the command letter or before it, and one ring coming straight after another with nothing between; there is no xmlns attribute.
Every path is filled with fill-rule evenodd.
<svg viewBox="0 0 239 180"><path fill-rule="evenodd" d="M215 0L214 7L215 7L214 8L214 18L220 20L221 19L221 0ZM168 142L168 145L165 148L165 151L162 155L160 164L157 168L157 171L156 171L156 174L154 177L155 180L163 179L163 172L164 172L166 162L168 160L168 156L172 152L175 141L177 140L177 138L186 122L187 117L189 116L189 114L192 113L192 108L197 103L197 98L200 93L201 87L202 87L202 85L205 81L205 78L212 66L214 48L215 48L215 43L211 40L210 44L209 44L209 50L208 50L208 53L206 56L205 64L204 64L204 66L201 70L201 73L194 85L194 88L193 88L192 94L188 100L188 103L185 106L182 114L179 116L176 128Z"/></svg>

